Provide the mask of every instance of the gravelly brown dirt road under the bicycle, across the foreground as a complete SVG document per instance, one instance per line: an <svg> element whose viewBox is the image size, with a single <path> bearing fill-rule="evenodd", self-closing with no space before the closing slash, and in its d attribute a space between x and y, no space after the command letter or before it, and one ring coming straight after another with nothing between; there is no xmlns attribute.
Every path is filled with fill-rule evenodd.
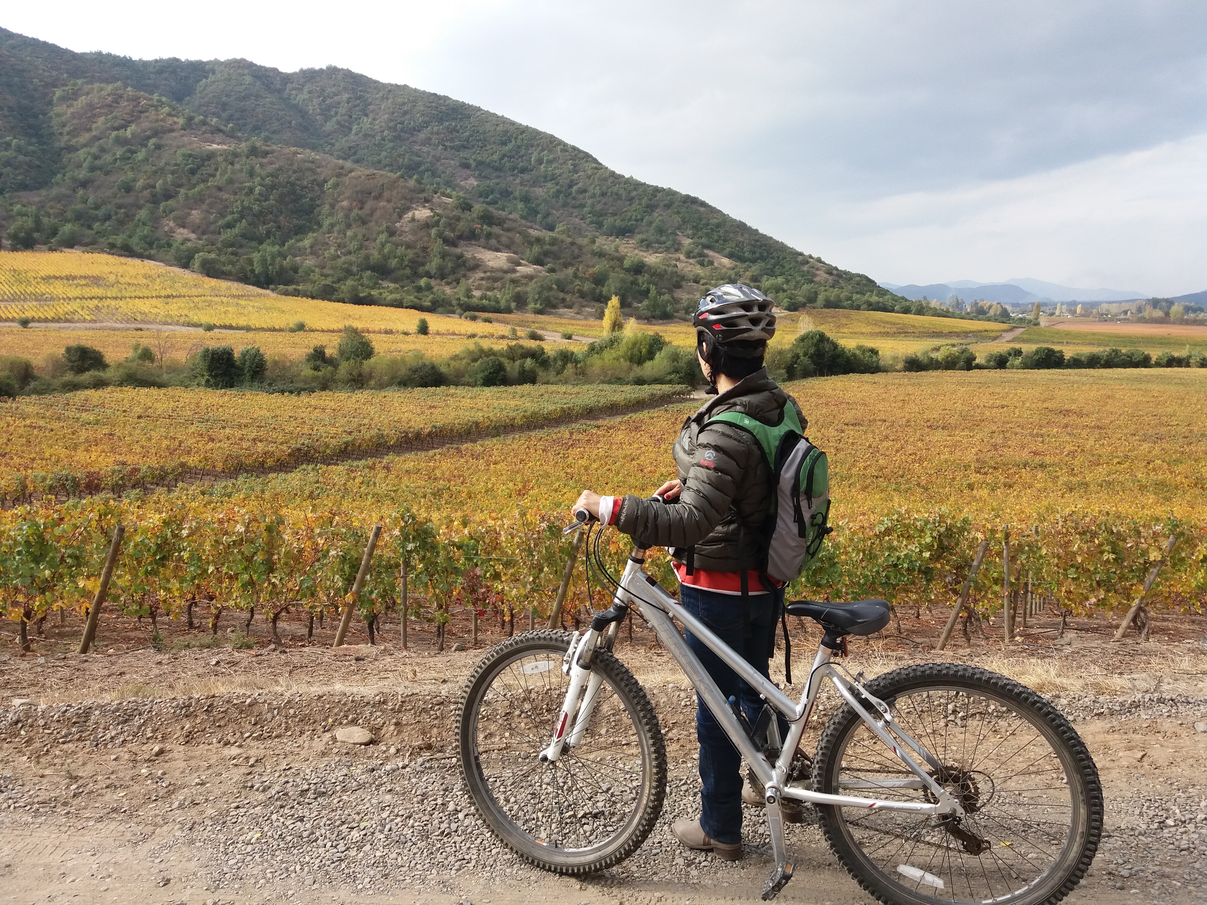
<svg viewBox="0 0 1207 905"><path fill-rule="evenodd" d="M1024 647L949 653L1040 687L1090 745L1107 837L1068 901L1202 901L1207 643ZM34 699L0 708L0 903L758 900L770 859L753 811L736 864L670 837L698 800L694 701L649 646L619 653L667 736L667 805L637 854L585 881L519 863L460 789L453 716L482 650L252 653L0 658L8 694ZM933 658L865 647L851 666L876 673ZM344 725L374 743L338 743ZM791 828L788 841L798 876L780 901L870 901L815 825Z"/></svg>

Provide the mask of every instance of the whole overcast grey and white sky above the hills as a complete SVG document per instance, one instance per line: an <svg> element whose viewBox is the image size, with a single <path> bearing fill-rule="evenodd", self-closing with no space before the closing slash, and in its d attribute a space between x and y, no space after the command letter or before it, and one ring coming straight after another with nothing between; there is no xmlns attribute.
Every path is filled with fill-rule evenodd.
<svg viewBox="0 0 1207 905"><path fill-rule="evenodd" d="M1201 0L59 0L0 25L449 94L876 280L1207 290Z"/></svg>

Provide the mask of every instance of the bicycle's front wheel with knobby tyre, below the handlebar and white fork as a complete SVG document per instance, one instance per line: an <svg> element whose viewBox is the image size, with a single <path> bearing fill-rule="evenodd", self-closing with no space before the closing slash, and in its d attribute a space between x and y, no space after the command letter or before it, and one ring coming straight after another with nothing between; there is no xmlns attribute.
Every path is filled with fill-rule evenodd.
<svg viewBox="0 0 1207 905"><path fill-rule="evenodd" d="M570 637L531 631L492 648L466 685L457 737L466 788L495 835L540 868L587 874L649 835L666 795L666 748L632 673L596 650L602 682L581 743L538 760L570 684Z"/></svg>

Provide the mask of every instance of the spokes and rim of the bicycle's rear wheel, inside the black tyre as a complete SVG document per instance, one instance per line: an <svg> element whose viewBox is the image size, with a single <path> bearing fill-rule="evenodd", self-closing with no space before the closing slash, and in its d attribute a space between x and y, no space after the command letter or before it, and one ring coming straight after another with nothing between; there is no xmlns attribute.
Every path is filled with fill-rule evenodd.
<svg viewBox="0 0 1207 905"><path fill-rule="evenodd" d="M969 688L923 687L885 700L900 732L944 765L927 771L964 806L960 831L987 847L969 854L950 818L835 808L859 857L890 886L937 901L1010 898L1053 869L1071 843L1073 807L1067 784L1044 782L1065 767L1040 726L1008 700ZM827 792L851 794L842 783L857 780L867 798L935 800L929 789L893 786L911 772L857 719L832 757Z"/></svg>

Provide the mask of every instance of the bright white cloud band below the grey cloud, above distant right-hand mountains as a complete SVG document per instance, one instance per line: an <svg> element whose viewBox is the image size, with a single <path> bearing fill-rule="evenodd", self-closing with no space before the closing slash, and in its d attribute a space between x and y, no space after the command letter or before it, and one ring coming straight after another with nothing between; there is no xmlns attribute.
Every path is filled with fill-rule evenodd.
<svg viewBox="0 0 1207 905"><path fill-rule="evenodd" d="M1207 288L1207 133L1049 173L832 204L800 234L894 282L1007 279L1154 294Z"/></svg>

